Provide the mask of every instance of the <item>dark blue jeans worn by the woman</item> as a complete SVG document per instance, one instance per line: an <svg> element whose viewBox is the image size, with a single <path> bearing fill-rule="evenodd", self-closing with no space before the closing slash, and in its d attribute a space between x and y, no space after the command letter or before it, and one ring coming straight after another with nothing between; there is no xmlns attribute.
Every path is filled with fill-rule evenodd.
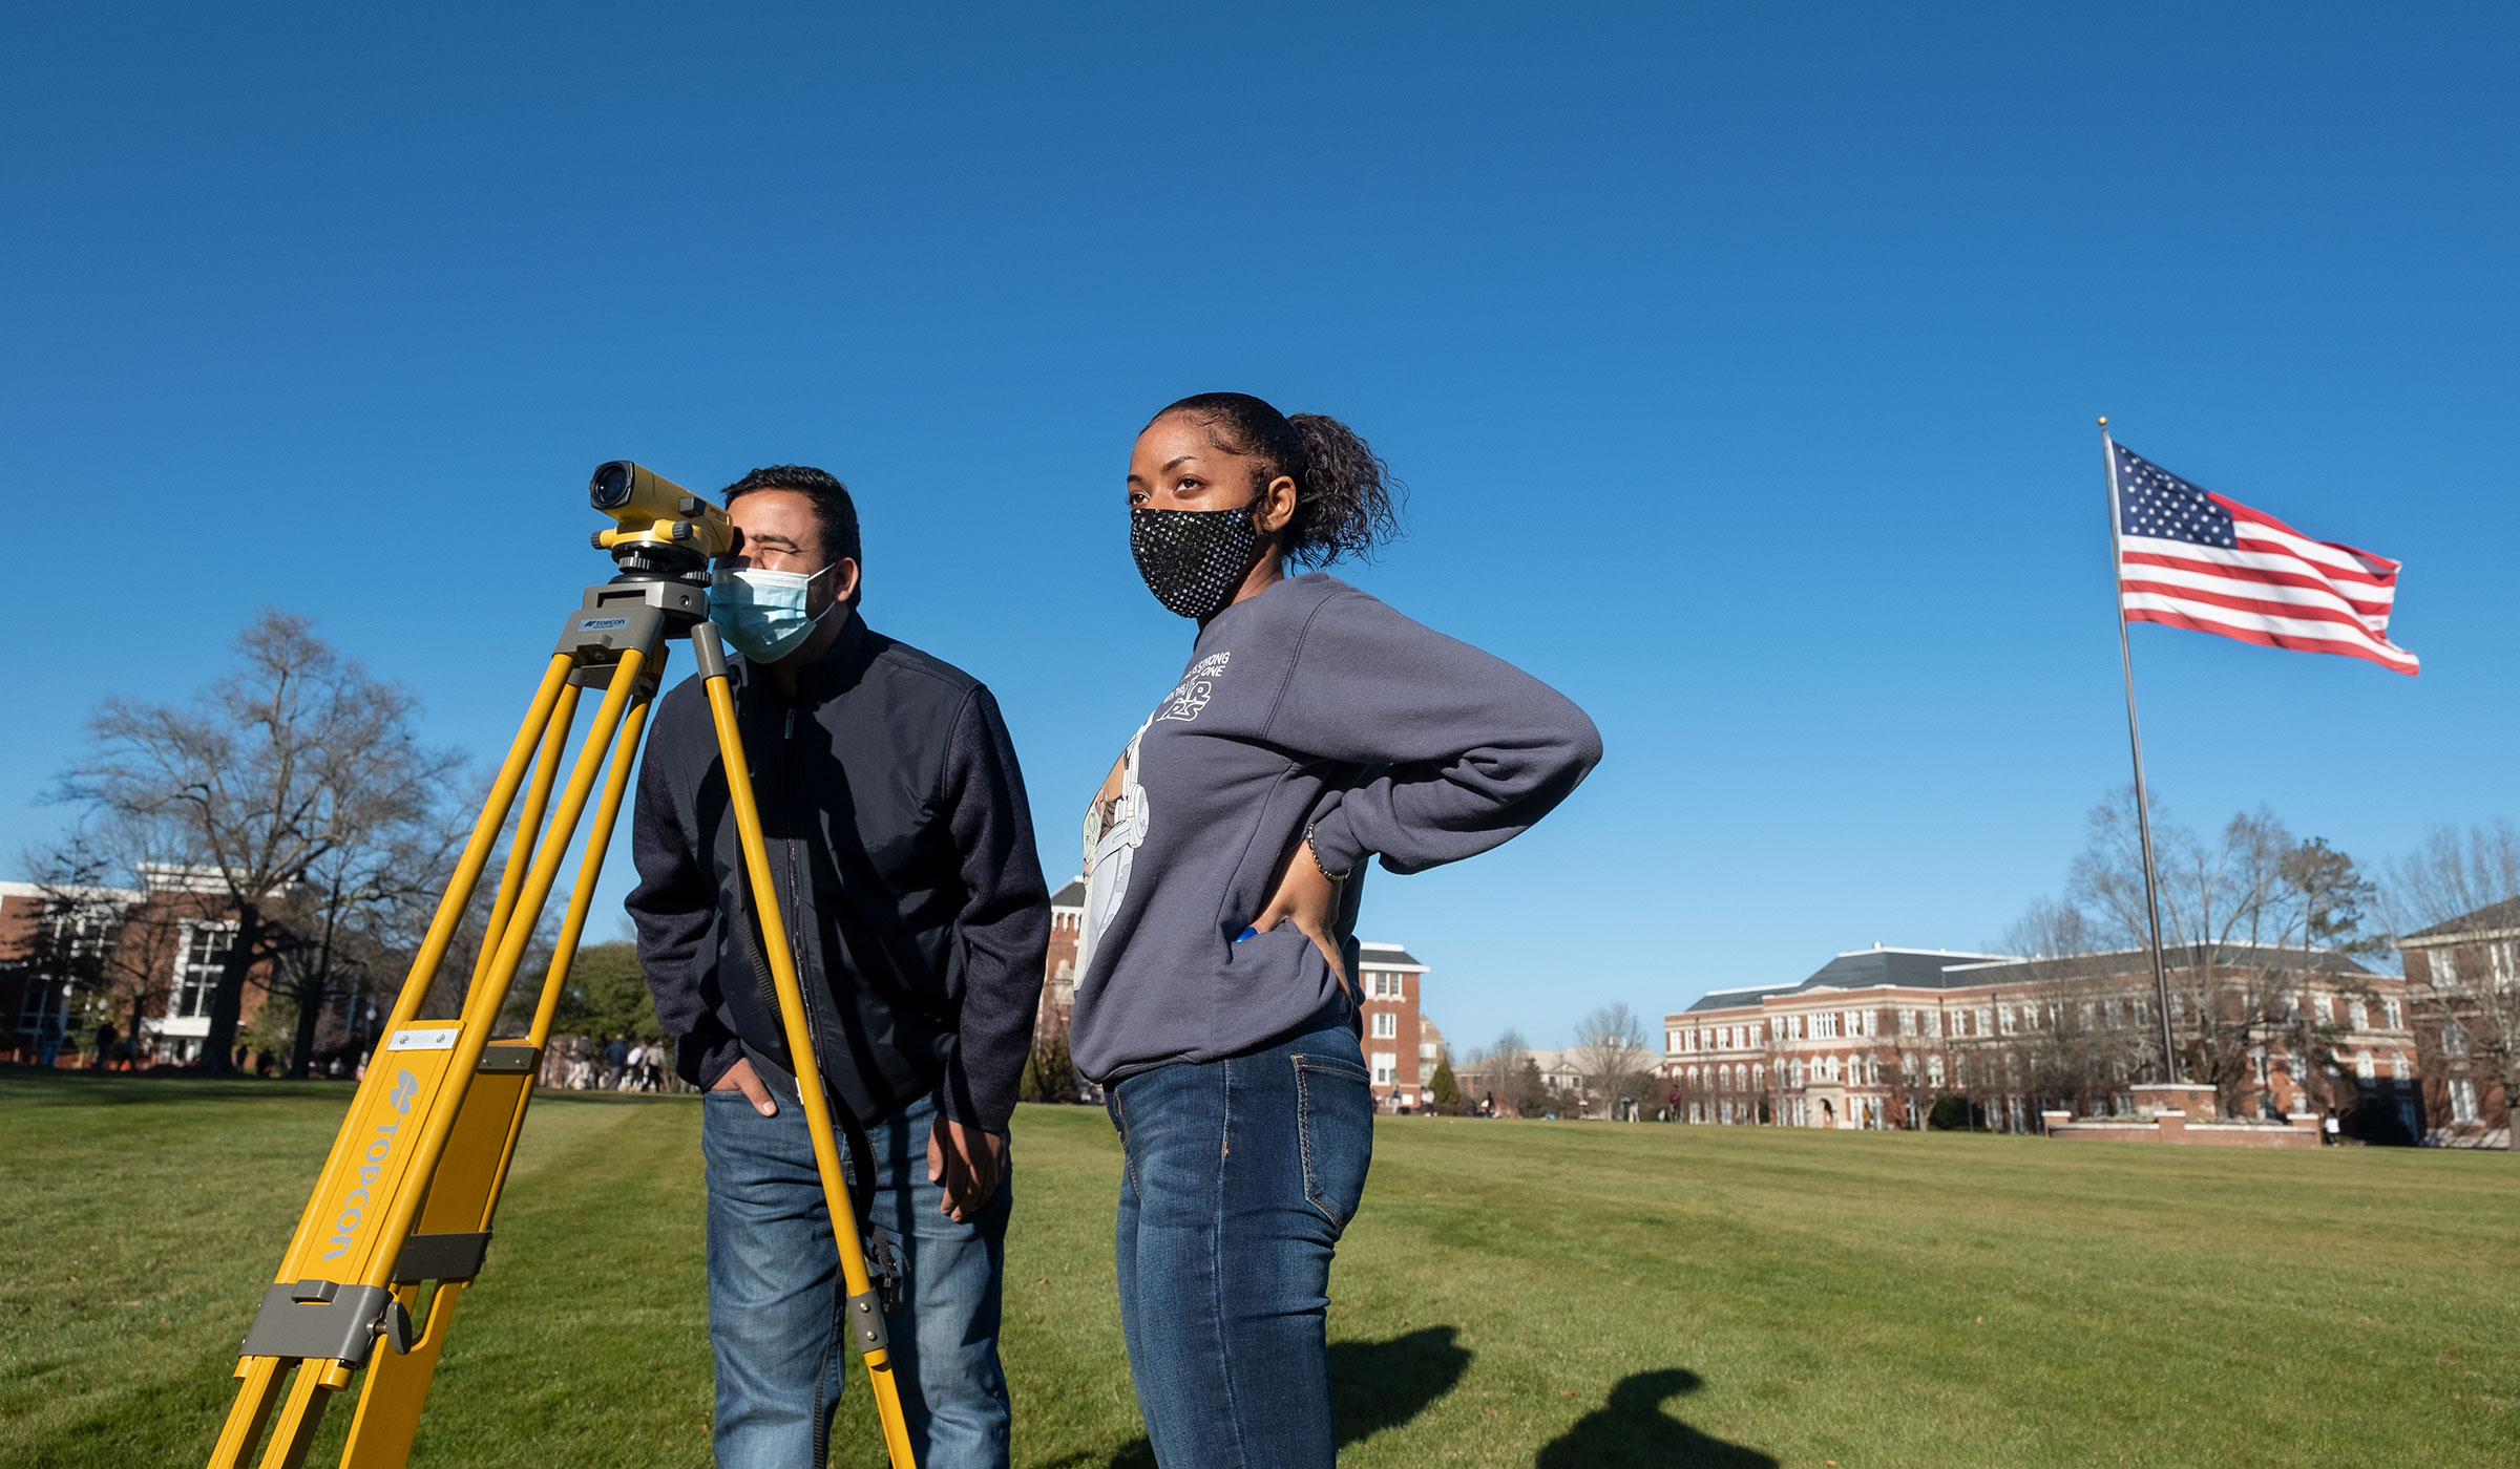
<svg viewBox="0 0 2520 1469"><path fill-rule="evenodd" d="M1111 1089L1119 1313L1167 1469L1331 1469L1331 1252L1366 1192L1356 1031Z"/></svg>

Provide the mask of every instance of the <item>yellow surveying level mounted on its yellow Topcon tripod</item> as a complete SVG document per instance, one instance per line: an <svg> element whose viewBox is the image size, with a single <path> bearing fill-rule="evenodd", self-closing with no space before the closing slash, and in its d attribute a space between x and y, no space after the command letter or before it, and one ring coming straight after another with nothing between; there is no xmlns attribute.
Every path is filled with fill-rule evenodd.
<svg viewBox="0 0 2520 1469"><path fill-rule="evenodd" d="M534 1099L534 1071L552 1028L552 1010L559 1005L559 985L570 975L587 907L595 902L595 879L612 844L612 821L620 816L630 769L638 763L648 708L663 688L668 637L690 640L708 713L718 728L718 758L726 763L726 791L753 895L753 935L759 935L753 960L766 960L779 995L779 1023L786 1031L799 1101L814 1136L822 1199L839 1242L849 1335L867 1361L874 1409L885 1424L885 1449L895 1469L915 1469L910 1431L902 1424L902 1393L892 1378L885 1293L874 1285L874 1275L892 1275L890 1247L869 1227L882 1262L869 1272L867 1237L857 1230L859 1212L832 1136L832 1106L824 1099L804 995L796 988L796 963L779 917L769 854L761 847L761 811L753 806L751 766L736 728L726 653L708 622L708 557L733 552L733 522L726 509L630 461L600 466L587 499L615 519L612 529L597 532L595 544L612 552L620 574L602 587L587 587L582 605L559 630L559 645L544 665L534 703L481 804L464 859L438 900L421 952L411 960L403 993L393 1000L383 1043L368 1058L368 1073L350 1099L350 1116L333 1139L333 1154L318 1174L287 1255L280 1257L280 1272L262 1293L262 1308L244 1333L237 1361L242 1386L209 1456L212 1469L242 1469L265 1439L262 1469L305 1464L325 1406L360 1368L365 1381L340 1464L396 1469L411 1454L411 1434L418 1429L428 1381L446 1348L456 1300L479 1278L489 1250L491 1215L499 1209L499 1189L517 1154L524 1109ZM587 688L600 690L602 703L552 809L570 723ZM534 1023L522 1041L494 1041L499 1005L524 963L590 799L595 799L595 826L577 864L559 945L542 975ZM509 842L464 1003L451 1020L423 1020L421 1003L512 809L517 834ZM549 826L544 826L547 809ZM857 1119L847 1116L847 1109L842 1121L857 1149L859 1184L872 1187L874 1154L864 1149ZM436 1288L423 1303L426 1285Z"/></svg>

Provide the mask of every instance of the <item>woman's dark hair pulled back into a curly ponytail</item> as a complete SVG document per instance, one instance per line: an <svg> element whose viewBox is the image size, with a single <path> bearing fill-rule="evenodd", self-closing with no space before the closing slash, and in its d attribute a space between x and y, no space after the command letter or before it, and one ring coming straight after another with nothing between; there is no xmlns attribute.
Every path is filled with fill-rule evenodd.
<svg viewBox="0 0 2520 1469"><path fill-rule="evenodd" d="M1285 416L1250 393L1197 393L1154 418L1169 413L1207 426L1220 449L1257 459L1252 491L1268 489L1280 474L1295 481L1295 519L1283 532L1288 562L1328 567L1348 557L1373 559L1373 552L1399 539L1409 489L1338 418Z"/></svg>

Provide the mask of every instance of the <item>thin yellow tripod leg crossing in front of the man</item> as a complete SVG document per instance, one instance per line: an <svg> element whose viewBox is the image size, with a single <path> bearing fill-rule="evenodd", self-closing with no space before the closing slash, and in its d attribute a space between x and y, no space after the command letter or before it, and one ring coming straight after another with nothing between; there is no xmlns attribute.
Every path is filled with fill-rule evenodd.
<svg viewBox="0 0 2520 1469"><path fill-rule="evenodd" d="M726 683L726 653L718 648L718 630L701 622L690 630L690 650L701 665L708 690L708 716L718 726L718 758L726 763L726 794L736 816L736 839L743 844L743 867L751 874L753 905L761 917L761 947L769 950L771 988L779 990L779 1026L786 1031L789 1061L796 1066L796 1094L804 1104L806 1131L814 1139L814 1169L822 1174L822 1204L832 1215L832 1235L839 1242L839 1278L849 1288L847 1320L859 1356L867 1361L867 1383L874 1388L874 1414L885 1424L885 1451L892 1469L917 1469L910 1449L910 1426L902 1421L902 1386L892 1378L892 1348L885 1333L885 1308L867 1280L867 1250L857 1235L857 1209L849 1202L849 1182L839 1169L839 1144L832 1139L832 1109L822 1096L822 1068L814 1063L814 1036L804 1018L804 990L796 988L796 957L789 947L786 920L779 915L779 887L771 882L769 849L761 844L761 811L753 806L753 776L743 761L743 731L736 726L736 698ZM874 1159L864 1159L872 1167Z"/></svg>

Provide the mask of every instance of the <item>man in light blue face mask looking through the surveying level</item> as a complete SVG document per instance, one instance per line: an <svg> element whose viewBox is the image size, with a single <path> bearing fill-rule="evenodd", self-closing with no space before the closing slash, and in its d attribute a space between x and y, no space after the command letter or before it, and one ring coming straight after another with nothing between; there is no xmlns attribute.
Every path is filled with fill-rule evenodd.
<svg viewBox="0 0 2520 1469"><path fill-rule="evenodd" d="M837 479L756 469L726 509L738 542L711 620L736 653L776 892L748 892L693 678L658 700L627 902L675 1068L706 1089L718 1464L822 1464L847 1353L759 900L786 920L832 1101L877 1154L874 1222L905 1245L887 1325L917 1459L1003 1466L1005 1124L1051 935L1023 776L988 688L859 620L857 506Z"/></svg>

